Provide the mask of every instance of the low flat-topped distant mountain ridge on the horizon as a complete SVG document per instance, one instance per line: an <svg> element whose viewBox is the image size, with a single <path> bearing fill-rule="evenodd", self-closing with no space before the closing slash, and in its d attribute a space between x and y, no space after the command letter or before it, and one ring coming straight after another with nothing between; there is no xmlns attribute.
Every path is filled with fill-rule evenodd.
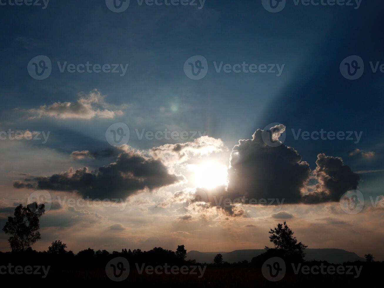
<svg viewBox="0 0 384 288"><path fill-rule="evenodd" d="M223 255L223 260L229 263L247 260L250 262L253 257L264 253L264 249L235 250L232 252L199 252L192 250L187 253L187 260L196 259L199 263L213 263L216 254ZM305 249L305 260L327 261L329 263L343 263L348 261L365 261L354 252L343 249Z"/></svg>

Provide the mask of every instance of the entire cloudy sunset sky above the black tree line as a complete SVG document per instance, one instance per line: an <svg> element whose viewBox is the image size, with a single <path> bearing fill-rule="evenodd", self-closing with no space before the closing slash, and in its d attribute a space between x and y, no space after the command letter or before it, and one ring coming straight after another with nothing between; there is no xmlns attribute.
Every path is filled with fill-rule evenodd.
<svg viewBox="0 0 384 288"><path fill-rule="evenodd" d="M286 220L384 260L384 3L181 2L0 1L1 226L44 190L36 250L260 249Z"/></svg>

